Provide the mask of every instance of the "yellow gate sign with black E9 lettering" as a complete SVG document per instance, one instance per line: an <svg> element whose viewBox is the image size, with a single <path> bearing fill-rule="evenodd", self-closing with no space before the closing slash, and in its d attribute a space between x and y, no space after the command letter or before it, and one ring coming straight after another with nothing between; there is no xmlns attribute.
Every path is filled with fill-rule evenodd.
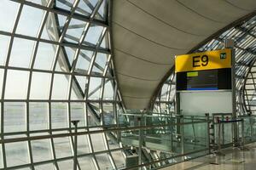
<svg viewBox="0 0 256 170"><path fill-rule="evenodd" d="M231 49L177 55L175 72L231 68Z"/></svg>

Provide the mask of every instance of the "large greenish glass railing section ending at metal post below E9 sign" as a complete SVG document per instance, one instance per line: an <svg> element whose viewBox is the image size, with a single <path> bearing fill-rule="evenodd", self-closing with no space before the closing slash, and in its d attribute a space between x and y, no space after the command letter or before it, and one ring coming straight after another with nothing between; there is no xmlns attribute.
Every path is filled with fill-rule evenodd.
<svg viewBox="0 0 256 170"><path fill-rule="evenodd" d="M135 128L122 131L120 139L122 144L139 147L142 142L143 148L189 159L208 153L208 123L207 116L126 113L119 116L119 127Z"/></svg>

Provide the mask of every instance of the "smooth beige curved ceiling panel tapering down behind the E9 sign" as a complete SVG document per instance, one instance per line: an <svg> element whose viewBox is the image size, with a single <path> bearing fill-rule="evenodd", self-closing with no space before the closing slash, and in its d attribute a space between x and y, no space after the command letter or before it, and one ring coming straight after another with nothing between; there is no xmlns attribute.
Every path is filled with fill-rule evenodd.
<svg viewBox="0 0 256 170"><path fill-rule="evenodd" d="M255 9L255 0L113 0L114 64L126 109L148 107L176 54Z"/></svg>

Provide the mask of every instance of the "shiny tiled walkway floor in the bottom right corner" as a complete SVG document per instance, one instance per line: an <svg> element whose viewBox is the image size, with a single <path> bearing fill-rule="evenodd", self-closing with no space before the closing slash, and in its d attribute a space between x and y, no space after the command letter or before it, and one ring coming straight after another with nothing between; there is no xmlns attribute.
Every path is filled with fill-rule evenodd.
<svg viewBox="0 0 256 170"><path fill-rule="evenodd" d="M227 149L225 156L204 156L161 170L256 170L256 144L246 147L249 150Z"/></svg>

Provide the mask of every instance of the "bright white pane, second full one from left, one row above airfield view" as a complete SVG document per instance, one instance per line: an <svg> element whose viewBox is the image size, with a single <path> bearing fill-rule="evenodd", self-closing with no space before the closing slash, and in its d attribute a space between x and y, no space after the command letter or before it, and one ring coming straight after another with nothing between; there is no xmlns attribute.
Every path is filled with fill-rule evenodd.
<svg viewBox="0 0 256 170"><path fill-rule="evenodd" d="M49 73L32 73L30 99L48 99L50 76Z"/></svg>

